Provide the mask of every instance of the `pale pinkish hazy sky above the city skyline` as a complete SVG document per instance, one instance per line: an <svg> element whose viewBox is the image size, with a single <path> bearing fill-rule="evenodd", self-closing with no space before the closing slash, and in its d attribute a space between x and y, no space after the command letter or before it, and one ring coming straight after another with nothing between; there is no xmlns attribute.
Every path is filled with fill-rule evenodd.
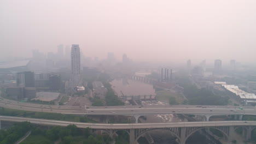
<svg viewBox="0 0 256 144"><path fill-rule="evenodd" d="M85 56L255 61L255 0L0 0L0 56L79 44Z"/></svg>

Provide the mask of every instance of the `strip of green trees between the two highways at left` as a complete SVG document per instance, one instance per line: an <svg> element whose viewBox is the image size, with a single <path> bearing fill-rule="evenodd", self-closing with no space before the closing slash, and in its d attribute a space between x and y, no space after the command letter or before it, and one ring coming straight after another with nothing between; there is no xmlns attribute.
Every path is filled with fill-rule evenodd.
<svg viewBox="0 0 256 144"><path fill-rule="evenodd" d="M91 119L84 116L63 115L61 113L48 113L48 112L32 112L13 110L0 107L0 115L2 116L16 116L16 117L30 117L30 118L42 118L42 119L54 119L60 121L71 122L93 122Z"/></svg>

